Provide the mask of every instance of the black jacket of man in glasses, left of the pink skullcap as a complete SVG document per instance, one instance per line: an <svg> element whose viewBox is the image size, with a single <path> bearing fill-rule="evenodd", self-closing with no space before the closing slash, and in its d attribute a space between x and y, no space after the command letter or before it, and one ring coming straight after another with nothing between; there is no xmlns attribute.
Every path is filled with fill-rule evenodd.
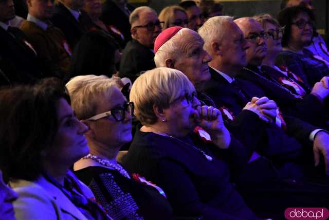
<svg viewBox="0 0 329 220"><path fill-rule="evenodd" d="M154 52L136 40L128 42L122 51L119 77L127 77L134 82L140 71L153 68L155 68Z"/></svg>

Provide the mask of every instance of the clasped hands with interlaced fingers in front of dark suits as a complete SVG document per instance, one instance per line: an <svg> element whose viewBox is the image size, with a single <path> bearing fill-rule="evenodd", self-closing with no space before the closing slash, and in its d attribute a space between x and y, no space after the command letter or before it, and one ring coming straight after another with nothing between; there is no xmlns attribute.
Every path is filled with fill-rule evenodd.
<svg viewBox="0 0 329 220"><path fill-rule="evenodd" d="M267 97L253 97L251 102L248 102L243 109L254 112L264 122L271 123L276 119L277 107L275 101L270 100Z"/></svg>

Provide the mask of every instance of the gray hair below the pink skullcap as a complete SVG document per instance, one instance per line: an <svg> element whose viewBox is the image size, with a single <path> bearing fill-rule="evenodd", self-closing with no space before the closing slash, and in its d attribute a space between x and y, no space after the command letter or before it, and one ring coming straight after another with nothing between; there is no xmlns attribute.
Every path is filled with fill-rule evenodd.
<svg viewBox="0 0 329 220"><path fill-rule="evenodd" d="M184 41L182 41L182 35L190 31L193 30L188 28L180 29L171 39L157 50L154 55L156 67L166 67L166 59L175 59L181 55L181 47L184 44Z"/></svg>

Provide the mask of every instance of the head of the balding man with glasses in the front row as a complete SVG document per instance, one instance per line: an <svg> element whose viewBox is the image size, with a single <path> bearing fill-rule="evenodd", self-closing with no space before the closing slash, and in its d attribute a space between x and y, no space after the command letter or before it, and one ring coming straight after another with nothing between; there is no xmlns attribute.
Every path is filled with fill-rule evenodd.
<svg viewBox="0 0 329 220"><path fill-rule="evenodd" d="M265 41L267 34L264 32L263 27L251 17L242 17L234 22L240 27L244 38L249 43L249 48L247 49L248 64L260 66L267 52Z"/></svg>

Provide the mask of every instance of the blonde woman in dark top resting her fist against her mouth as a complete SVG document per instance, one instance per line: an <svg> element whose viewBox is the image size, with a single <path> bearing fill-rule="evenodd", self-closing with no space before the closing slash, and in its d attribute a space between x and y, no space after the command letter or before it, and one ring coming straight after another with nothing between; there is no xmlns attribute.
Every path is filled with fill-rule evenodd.
<svg viewBox="0 0 329 220"><path fill-rule="evenodd" d="M142 125L124 165L161 187L175 215L257 219L230 183L228 164L236 169L244 164L245 148L231 138L218 109L200 106L182 72L166 67L145 72L130 100Z"/></svg>

